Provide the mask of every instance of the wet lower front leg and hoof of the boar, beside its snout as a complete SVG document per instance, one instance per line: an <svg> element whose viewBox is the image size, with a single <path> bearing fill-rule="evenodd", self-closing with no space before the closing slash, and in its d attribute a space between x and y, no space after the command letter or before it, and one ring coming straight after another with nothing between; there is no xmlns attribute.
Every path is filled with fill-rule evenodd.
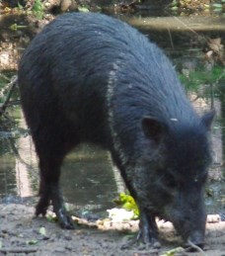
<svg viewBox="0 0 225 256"><path fill-rule="evenodd" d="M146 245L154 248L159 248L158 228L155 221L155 215L146 213L145 210L140 210L140 224L137 240L141 240Z"/></svg>

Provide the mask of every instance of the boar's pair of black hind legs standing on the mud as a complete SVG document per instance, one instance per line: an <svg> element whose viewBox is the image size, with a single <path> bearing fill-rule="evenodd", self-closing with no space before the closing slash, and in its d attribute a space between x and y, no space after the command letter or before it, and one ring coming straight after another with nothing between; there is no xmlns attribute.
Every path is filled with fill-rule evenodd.
<svg viewBox="0 0 225 256"><path fill-rule="evenodd" d="M59 187L60 167L65 152L60 143L54 144L54 146L49 145L50 143L48 143L47 149L44 148L45 150L37 150L40 169L40 199L36 208L36 215L45 215L51 202L53 212L56 214L61 227L73 229L74 225L71 217L66 213ZM39 148L37 147L37 149Z"/></svg>

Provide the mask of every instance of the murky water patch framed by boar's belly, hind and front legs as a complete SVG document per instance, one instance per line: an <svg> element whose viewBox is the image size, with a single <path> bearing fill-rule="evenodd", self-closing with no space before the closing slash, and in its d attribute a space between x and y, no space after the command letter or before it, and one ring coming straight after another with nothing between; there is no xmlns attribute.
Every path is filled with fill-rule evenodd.
<svg viewBox="0 0 225 256"><path fill-rule="evenodd" d="M112 200L122 186L116 172L107 151L82 145L67 157L63 166L63 195L68 202L82 208L112 208Z"/></svg>

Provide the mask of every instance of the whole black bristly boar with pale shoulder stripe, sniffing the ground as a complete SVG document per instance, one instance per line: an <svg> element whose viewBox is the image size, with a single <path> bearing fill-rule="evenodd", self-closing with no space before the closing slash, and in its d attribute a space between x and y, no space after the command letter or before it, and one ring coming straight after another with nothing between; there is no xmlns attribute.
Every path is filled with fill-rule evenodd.
<svg viewBox="0 0 225 256"><path fill-rule="evenodd" d="M25 51L19 85L39 158L37 215L52 202L61 225L73 227L60 167L77 144L97 143L111 151L139 206L139 238L157 241L158 215L202 245L213 113L196 115L161 49L105 15L65 14Z"/></svg>

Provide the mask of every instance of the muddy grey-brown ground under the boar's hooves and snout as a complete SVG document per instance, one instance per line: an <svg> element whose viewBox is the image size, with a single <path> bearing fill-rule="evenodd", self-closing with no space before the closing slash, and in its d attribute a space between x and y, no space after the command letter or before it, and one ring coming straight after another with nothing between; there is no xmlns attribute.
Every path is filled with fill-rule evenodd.
<svg viewBox="0 0 225 256"><path fill-rule="evenodd" d="M134 238L137 220L112 222L98 220L87 222L75 230L63 230L44 217L34 218L35 209L25 205L0 205L0 255L225 255L225 221L207 223L204 252L170 254L181 246L181 240L169 222L159 221L162 247L146 249L143 245L124 245ZM82 220L80 220L82 221ZM93 225L90 227L90 225Z"/></svg>

